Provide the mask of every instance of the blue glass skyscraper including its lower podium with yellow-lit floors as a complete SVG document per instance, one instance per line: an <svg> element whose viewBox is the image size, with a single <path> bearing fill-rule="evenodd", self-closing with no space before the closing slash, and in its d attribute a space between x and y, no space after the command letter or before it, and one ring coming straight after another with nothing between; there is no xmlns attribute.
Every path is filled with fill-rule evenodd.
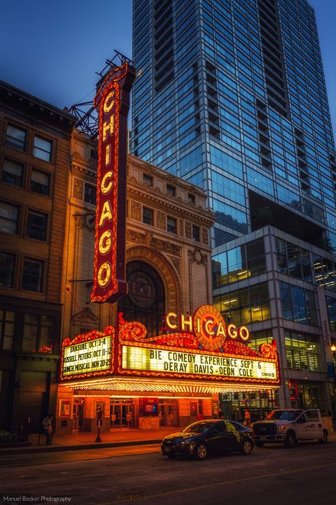
<svg viewBox="0 0 336 505"><path fill-rule="evenodd" d="M133 59L133 153L215 212L214 305L256 348L276 340L279 406L336 417L335 144L313 9L134 0ZM221 405L261 410L263 395Z"/></svg>

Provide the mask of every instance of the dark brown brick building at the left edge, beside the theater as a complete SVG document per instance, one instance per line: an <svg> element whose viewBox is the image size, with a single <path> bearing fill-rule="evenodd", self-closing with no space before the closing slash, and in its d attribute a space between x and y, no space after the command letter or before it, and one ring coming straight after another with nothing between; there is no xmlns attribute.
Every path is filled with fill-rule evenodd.
<svg viewBox="0 0 336 505"><path fill-rule="evenodd" d="M55 405L74 118L0 82L0 427Z"/></svg>

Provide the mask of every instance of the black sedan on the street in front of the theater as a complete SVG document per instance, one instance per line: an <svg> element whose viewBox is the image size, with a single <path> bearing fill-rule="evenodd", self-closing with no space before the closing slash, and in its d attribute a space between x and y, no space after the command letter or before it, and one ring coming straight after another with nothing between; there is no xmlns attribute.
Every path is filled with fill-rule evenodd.
<svg viewBox="0 0 336 505"><path fill-rule="evenodd" d="M254 447L254 433L240 423L229 420L208 419L193 423L180 433L164 437L162 455L174 458L192 456L205 460L208 455L226 451L239 451L249 455Z"/></svg>

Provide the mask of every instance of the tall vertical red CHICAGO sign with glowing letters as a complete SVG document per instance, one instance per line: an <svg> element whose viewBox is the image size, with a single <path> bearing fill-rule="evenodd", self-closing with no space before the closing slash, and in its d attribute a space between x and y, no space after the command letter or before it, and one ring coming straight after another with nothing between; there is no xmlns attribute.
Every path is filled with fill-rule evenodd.
<svg viewBox="0 0 336 505"><path fill-rule="evenodd" d="M125 220L127 116L135 69L113 67L99 84L94 105L99 109L94 287L91 302L116 302L127 293Z"/></svg>

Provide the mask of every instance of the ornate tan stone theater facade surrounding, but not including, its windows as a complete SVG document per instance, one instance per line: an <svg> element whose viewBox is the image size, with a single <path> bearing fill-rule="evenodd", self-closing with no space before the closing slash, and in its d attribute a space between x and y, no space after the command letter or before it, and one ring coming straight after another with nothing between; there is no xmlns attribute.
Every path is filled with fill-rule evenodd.
<svg viewBox="0 0 336 505"><path fill-rule="evenodd" d="M96 165L90 156L96 145L79 131L73 136L62 337L74 337L84 330L102 331L116 322L117 310L116 304L90 303L95 206L84 201L84 185L96 184ZM144 175L152 185L144 182ZM167 192L167 184L176 188L176 195ZM195 205L188 200L190 193ZM155 268L164 286L167 312L190 312L208 303L211 271L206 259L210 255L208 230L213 214L206 209L203 191L129 155L127 198L126 262L142 261ZM143 207L152 210L152 224L142 222ZM169 217L176 222L173 232L167 229ZM192 240L192 225L202 230L197 244Z"/></svg>

